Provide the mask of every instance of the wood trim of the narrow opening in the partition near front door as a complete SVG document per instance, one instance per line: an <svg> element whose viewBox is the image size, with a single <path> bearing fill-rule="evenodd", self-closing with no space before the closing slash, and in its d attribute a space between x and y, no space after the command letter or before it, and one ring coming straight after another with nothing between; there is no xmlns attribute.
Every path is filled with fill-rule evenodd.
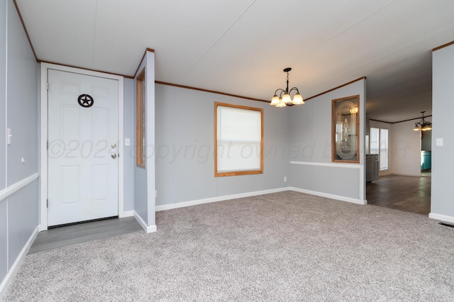
<svg viewBox="0 0 454 302"><path fill-rule="evenodd" d="M136 83L136 94L135 94L135 163L137 167L145 169L145 148L142 145L142 138L145 134L145 125L146 121L143 121L143 111L146 109L145 101L143 99L142 88L143 82L145 81L145 68L142 69L138 77L135 79Z"/></svg>

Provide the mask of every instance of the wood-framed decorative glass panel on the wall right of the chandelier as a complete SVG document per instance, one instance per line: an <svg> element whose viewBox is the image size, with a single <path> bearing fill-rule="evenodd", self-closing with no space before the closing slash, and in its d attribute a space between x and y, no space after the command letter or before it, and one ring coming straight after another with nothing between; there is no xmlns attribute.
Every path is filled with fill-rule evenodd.
<svg viewBox="0 0 454 302"><path fill-rule="evenodd" d="M360 96L347 96L332 101L331 160L359 163Z"/></svg>

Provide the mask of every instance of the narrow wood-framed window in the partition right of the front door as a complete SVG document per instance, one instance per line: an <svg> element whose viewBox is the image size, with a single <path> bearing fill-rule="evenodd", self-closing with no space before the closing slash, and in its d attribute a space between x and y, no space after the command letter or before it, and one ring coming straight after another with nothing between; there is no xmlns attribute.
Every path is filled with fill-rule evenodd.
<svg viewBox="0 0 454 302"><path fill-rule="evenodd" d="M136 100L135 100L135 155L137 167L145 169L145 121L146 121L146 87L145 69L140 72L136 79Z"/></svg>

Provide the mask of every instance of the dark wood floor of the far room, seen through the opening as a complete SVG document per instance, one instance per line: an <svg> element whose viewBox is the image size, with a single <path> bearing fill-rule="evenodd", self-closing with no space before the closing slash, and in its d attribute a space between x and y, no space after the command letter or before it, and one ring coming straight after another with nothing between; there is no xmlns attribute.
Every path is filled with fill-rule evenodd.
<svg viewBox="0 0 454 302"><path fill-rule="evenodd" d="M389 175L366 184L368 204L428 215L431 211L431 172L421 177Z"/></svg>

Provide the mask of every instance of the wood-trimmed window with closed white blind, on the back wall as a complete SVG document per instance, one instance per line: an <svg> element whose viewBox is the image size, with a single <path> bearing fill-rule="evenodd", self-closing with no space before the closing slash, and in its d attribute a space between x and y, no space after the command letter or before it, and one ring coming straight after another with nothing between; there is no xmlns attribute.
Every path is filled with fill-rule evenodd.
<svg viewBox="0 0 454 302"><path fill-rule="evenodd" d="M214 104L214 175L263 173L263 110Z"/></svg>

